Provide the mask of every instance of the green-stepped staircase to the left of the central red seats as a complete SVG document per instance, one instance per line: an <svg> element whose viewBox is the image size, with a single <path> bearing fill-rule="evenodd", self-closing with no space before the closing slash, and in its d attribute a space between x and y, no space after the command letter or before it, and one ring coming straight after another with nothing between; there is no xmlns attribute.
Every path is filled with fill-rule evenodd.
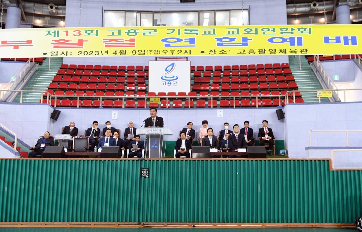
<svg viewBox="0 0 362 232"><path fill-rule="evenodd" d="M39 65L34 75L30 78L28 83L25 84L22 90L37 90L44 91L48 89L49 83L59 70L60 65L63 63L63 58L52 57L50 59L50 70L49 70L49 59L46 58L43 65ZM34 102L39 103L42 94L40 93L24 93L22 102ZM20 94L18 94L14 102L20 102Z"/></svg>

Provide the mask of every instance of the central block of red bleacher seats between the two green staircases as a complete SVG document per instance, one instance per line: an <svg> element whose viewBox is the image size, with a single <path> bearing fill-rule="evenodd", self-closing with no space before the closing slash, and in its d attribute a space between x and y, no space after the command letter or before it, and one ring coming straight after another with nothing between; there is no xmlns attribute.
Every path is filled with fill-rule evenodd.
<svg viewBox="0 0 362 232"><path fill-rule="evenodd" d="M147 90L148 66L122 65L63 64L48 87L48 92L57 96L56 105L61 107L77 107L75 99L77 96L89 97L81 98L79 107L158 107L159 103L129 98L157 96L161 98L160 107L188 108L211 107L211 105L212 107L277 106L279 98L275 95L298 90L298 86L288 63L266 63L191 66L192 92L156 94ZM208 98L192 98L189 101L188 96ZM255 96L265 97L260 97L256 101ZM44 97L46 98L46 95ZM166 102L167 97L169 99ZM292 98L292 93L289 93L289 97ZM296 103L303 103L301 97L300 92L295 93ZM284 104L283 99L282 97L281 104ZM54 97L52 101L54 102Z"/></svg>

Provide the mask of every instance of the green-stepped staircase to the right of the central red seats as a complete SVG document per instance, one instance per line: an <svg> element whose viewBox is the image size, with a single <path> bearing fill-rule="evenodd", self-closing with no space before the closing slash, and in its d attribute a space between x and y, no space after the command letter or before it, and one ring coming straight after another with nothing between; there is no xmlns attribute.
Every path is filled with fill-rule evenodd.
<svg viewBox="0 0 362 232"><path fill-rule="evenodd" d="M315 76L308 60L304 55L300 56L302 70L299 70L299 57L289 55L289 66L294 75L298 90L315 90L315 92L302 92L304 102L318 102L317 90L323 90L319 80ZM320 98L321 102L329 102L328 98Z"/></svg>

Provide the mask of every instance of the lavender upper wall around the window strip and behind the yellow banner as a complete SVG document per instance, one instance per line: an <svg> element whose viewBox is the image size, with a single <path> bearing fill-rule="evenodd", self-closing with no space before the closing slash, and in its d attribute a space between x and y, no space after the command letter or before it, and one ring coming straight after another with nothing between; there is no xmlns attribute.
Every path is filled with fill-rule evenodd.
<svg viewBox="0 0 362 232"><path fill-rule="evenodd" d="M197 0L196 3L180 3L163 0L162 11L205 11L241 9L240 0ZM81 8L81 10L79 9ZM244 0L244 9L249 8L251 25L286 25L286 2L283 0ZM160 11L159 0L108 0L67 1L66 27L102 26L104 10ZM90 65L148 65L154 57L85 57L64 58L65 64ZM190 56L192 65L241 65L256 63L287 63L287 55L258 56Z"/></svg>

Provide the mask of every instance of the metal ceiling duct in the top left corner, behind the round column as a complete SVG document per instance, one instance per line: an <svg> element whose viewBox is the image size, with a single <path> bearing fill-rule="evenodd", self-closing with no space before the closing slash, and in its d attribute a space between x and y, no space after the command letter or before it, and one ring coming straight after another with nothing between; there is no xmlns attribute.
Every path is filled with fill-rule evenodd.
<svg viewBox="0 0 362 232"><path fill-rule="evenodd" d="M10 5L14 5L9 0L3 0L4 7L8 8ZM54 4L40 4L40 3L30 3L30 2L22 2L22 9L24 9L25 13L34 13L41 15L49 15L49 16L66 16L66 6L56 6Z"/></svg>

